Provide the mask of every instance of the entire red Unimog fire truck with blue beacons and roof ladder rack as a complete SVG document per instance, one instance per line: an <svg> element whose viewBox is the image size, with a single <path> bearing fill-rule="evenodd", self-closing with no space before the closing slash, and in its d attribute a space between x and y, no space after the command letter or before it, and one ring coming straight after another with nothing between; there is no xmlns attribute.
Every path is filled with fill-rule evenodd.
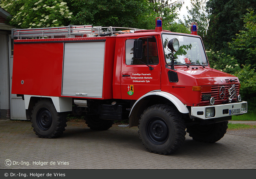
<svg viewBox="0 0 256 179"><path fill-rule="evenodd" d="M232 115L247 112L233 75L210 68L196 35L154 30L72 26L13 29L12 93L22 96L35 134L63 134L66 115L88 127L116 120L138 126L150 152L170 154L186 132L197 141L220 140Z"/></svg>

